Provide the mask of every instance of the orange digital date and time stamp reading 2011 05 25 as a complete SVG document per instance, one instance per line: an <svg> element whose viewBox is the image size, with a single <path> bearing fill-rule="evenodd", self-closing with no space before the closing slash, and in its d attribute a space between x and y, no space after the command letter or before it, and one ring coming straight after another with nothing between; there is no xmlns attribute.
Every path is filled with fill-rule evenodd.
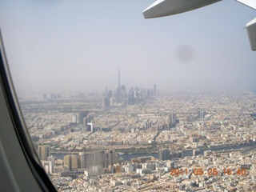
<svg viewBox="0 0 256 192"><path fill-rule="evenodd" d="M246 175L246 169L239 168L238 170L232 170L230 168L225 168L223 170L218 170L217 168L207 168L207 170L203 168L193 168L193 169L182 169L182 168L171 168L170 175L171 176L181 176L181 175L230 175L230 174L238 174L238 175Z"/></svg>

